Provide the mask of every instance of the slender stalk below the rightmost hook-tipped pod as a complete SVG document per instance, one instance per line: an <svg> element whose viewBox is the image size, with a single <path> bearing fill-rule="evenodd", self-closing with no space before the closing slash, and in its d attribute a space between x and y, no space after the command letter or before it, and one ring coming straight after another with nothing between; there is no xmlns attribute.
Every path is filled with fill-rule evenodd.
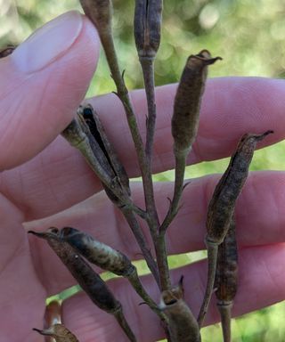
<svg viewBox="0 0 285 342"><path fill-rule="evenodd" d="M216 259L217 259L217 250L218 250L217 243L211 242L208 240L206 240L205 243L206 243L207 250L208 250L208 277L207 277L207 285L206 285L203 303L199 310L199 316L197 319L199 323L199 328L201 328L205 315L208 312L208 305L209 305L209 302L213 293L213 289L214 289L215 275L216 275Z"/></svg>

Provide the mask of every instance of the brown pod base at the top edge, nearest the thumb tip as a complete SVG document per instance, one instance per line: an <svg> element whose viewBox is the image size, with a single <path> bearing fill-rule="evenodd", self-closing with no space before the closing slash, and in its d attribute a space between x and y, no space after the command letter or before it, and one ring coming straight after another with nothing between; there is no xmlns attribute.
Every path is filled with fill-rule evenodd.
<svg viewBox="0 0 285 342"><path fill-rule="evenodd" d="M86 16L94 23L99 34L110 30L112 4L110 0L80 0Z"/></svg>

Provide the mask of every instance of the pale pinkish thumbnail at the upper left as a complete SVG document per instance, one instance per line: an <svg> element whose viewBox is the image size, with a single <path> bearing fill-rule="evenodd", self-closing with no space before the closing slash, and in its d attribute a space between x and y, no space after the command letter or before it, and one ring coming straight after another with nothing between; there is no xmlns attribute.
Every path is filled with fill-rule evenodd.
<svg viewBox="0 0 285 342"><path fill-rule="evenodd" d="M82 28L82 16L72 11L38 28L12 53L12 61L25 72L43 69L64 54Z"/></svg>

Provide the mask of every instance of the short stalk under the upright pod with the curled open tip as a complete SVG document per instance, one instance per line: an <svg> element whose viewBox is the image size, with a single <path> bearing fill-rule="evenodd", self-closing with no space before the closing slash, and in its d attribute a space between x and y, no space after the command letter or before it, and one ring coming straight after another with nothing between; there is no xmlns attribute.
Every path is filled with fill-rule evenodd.
<svg viewBox="0 0 285 342"><path fill-rule="evenodd" d="M167 227L169 226L169 224L171 224L178 212L180 199L183 193L183 180L187 155L188 151L183 154L175 153L175 191L167 212L167 216L160 226L160 234L165 234L165 232L167 231Z"/></svg>

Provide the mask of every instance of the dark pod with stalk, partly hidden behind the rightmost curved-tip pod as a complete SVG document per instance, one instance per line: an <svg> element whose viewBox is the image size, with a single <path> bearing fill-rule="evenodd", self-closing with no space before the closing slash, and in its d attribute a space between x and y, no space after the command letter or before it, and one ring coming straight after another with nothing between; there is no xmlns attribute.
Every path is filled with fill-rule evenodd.
<svg viewBox="0 0 285 342"><path fill-rule="evenodd" d="M232 303L238 286L238 248L235 222L232 218L223 243L219 245L216 262L216 305L220 312L224 342L231 342Z"/></svg>

